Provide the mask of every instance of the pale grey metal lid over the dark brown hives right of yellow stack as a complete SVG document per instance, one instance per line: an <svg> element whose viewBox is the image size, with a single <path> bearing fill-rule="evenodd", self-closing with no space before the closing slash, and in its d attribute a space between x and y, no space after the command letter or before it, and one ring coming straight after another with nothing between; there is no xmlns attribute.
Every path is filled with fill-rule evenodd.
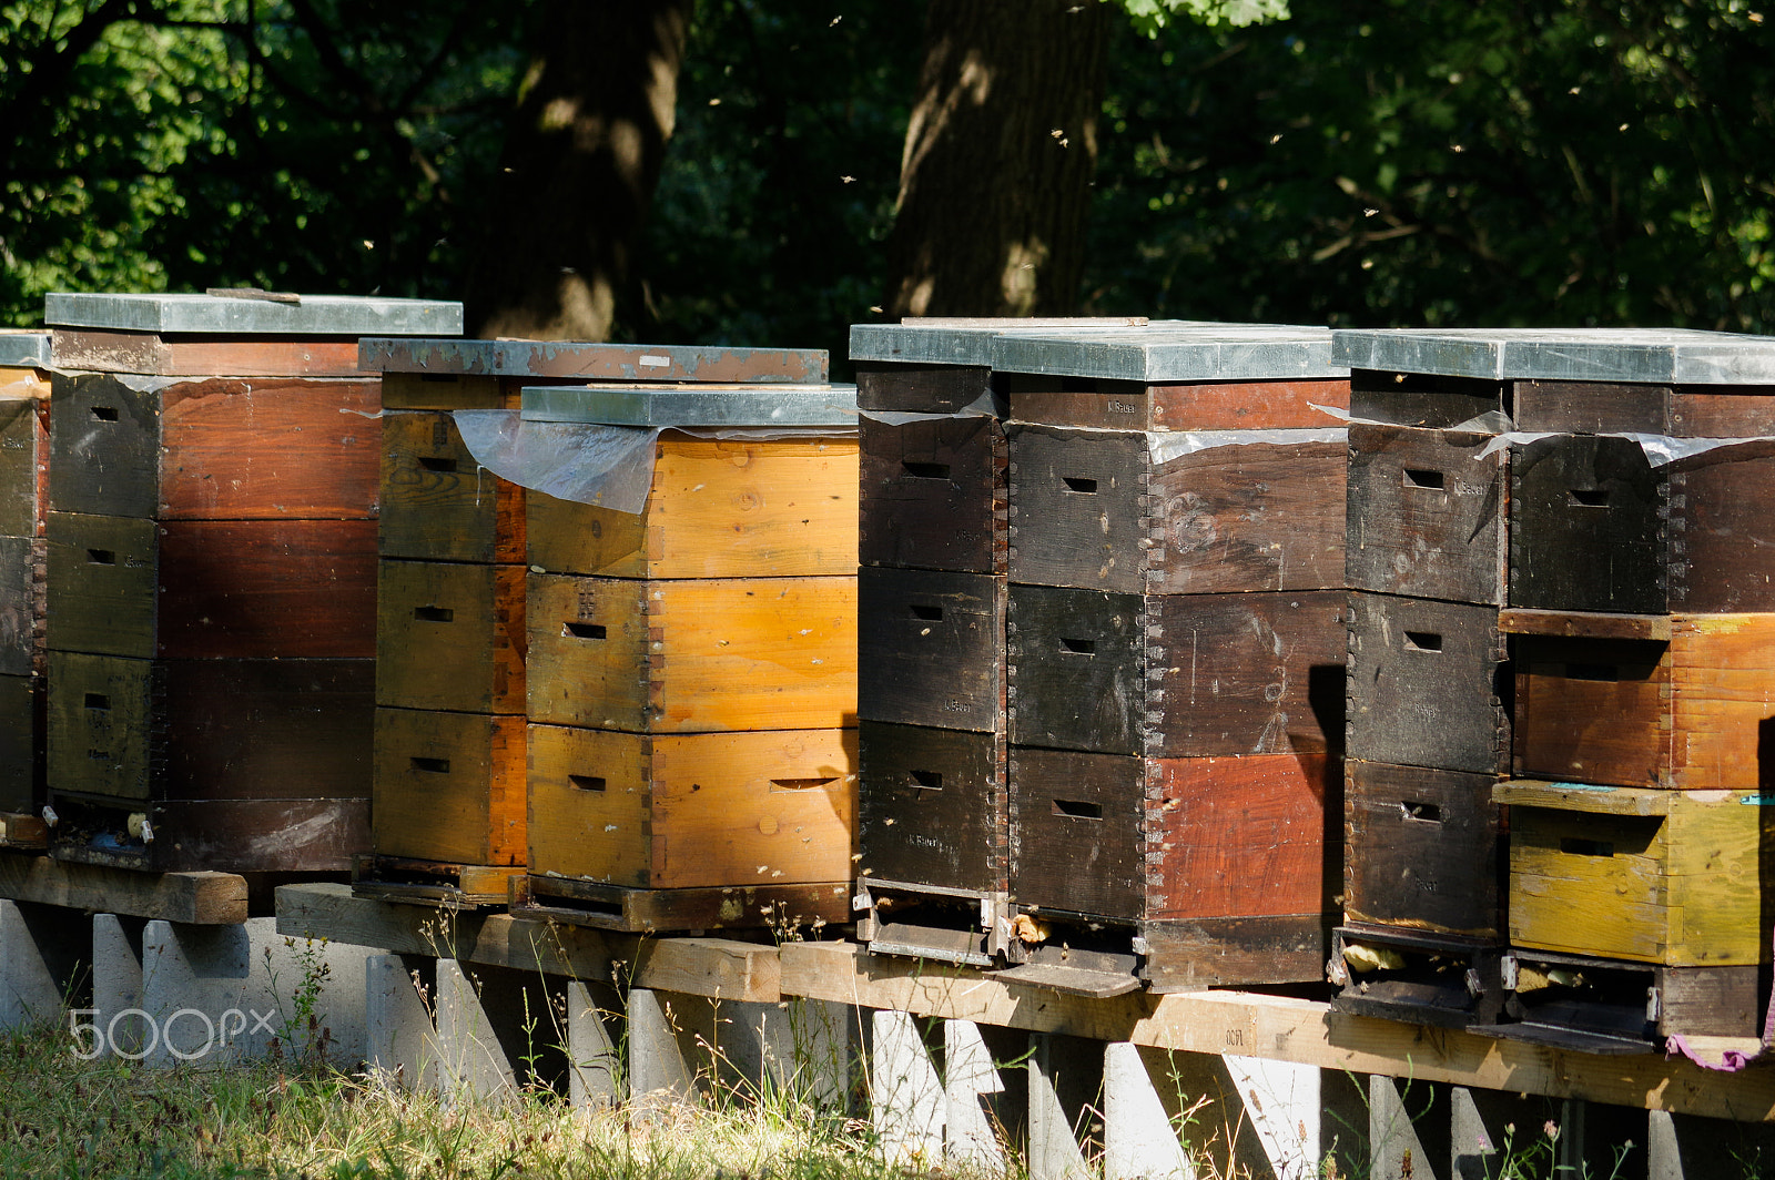
<svg viewBox="0 0 1775 1180"><path fill-rule="evenodd" d="M951 328L944 321L857 325L854 360L987 366L998 373L1035 373L1120 382L1264 382L1340 378L1331 330L1301 325L1157 319L1092 321L1085 326Z"/></svg>

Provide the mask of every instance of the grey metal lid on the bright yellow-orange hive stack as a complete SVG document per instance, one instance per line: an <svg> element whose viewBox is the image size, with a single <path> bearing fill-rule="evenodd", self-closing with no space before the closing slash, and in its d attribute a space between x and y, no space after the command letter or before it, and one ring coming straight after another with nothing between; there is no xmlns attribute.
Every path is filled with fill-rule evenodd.
<svg viewBox="0 0 1775 1180"><path fill-rule="evenodd" d="M848 426L856 385L525 385L525 422L600 426Z"/></svg>

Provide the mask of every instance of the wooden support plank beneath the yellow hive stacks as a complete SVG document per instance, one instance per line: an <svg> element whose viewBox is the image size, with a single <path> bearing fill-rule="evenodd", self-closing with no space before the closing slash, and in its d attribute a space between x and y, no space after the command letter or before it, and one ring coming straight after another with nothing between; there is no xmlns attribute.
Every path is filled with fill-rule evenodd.
<svg viewBox="0 0 1775 1180"><path fill-rule="evenodd" d="M781 999L774 946L737 939L643 939L509 914L454 914L440 921L437 909L359 898L350 885L335 882L280 885L277 932L591 983L609 983L612 972L621 972L623 983L680 995L765 1004Z"/></svg>

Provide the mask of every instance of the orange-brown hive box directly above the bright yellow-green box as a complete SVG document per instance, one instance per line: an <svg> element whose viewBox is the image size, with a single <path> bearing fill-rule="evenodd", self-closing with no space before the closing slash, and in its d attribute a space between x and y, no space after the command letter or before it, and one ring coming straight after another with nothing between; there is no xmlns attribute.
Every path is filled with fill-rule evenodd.
<svg viewBox="0 0 1775 1180"><path fill-rule="evenodd" d="M1754 790L1775 713L1775 614L1512 610L1521 777Z"/></svg>

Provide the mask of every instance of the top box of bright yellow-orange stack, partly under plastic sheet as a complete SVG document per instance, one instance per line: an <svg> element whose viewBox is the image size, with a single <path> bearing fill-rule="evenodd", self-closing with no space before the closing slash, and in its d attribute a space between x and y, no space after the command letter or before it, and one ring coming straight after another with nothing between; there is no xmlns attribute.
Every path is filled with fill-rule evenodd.
<svg viewBox="0 0 1775 1180"><path fill-rule="evenodd" d="M529 564L621 578L854 575L857 440L666 431L639 515L531 493Z"/></svg>

